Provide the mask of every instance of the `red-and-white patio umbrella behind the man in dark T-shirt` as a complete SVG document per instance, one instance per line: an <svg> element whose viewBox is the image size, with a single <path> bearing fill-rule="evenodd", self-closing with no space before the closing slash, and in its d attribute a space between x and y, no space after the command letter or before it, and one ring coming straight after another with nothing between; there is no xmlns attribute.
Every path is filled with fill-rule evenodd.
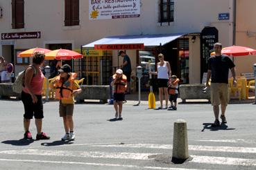
<svg viewBox="0 0 256 170"><path fill-rule="evenodd" d="M233 57L243 56L243 55L256 55L256 50L253 48L248 48L244 46L228 46L222 48L221 53L224 55L229 55ZM215 55L214 52L211 55Z"/></svg>

